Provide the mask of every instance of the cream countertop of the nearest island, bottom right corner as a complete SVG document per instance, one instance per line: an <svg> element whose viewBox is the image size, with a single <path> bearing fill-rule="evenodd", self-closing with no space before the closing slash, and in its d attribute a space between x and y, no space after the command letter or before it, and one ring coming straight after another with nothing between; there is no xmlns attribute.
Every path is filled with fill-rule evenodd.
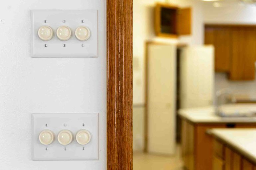
<svg viewBox="0 0 256 170"><path fill-rule="evenodd" d="M256 129L211 129L209 132L256 164Z"/></svg>

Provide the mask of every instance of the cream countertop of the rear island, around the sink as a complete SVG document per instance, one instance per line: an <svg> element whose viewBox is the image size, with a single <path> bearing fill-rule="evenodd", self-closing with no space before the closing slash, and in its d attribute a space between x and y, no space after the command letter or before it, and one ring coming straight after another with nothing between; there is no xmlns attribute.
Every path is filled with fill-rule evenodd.
<svg viewBox="0 0 256 170"><path fill-rule="evenodd" d="M192 123L256 123L256 117L219 117L214 114L214 111L214 107L211 106L180 109L178 114Z"/></svg>

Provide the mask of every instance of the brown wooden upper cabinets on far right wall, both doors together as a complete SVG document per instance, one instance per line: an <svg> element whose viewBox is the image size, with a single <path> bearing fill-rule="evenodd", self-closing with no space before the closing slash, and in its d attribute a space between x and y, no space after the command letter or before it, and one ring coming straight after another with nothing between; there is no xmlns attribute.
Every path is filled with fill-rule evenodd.
<svg viewBox="0 0 256 170"><path fill-rule="evenodd" d="M256 26L205 25L204 43L215 47L215 71L230 80L254 80Z"/></svg>

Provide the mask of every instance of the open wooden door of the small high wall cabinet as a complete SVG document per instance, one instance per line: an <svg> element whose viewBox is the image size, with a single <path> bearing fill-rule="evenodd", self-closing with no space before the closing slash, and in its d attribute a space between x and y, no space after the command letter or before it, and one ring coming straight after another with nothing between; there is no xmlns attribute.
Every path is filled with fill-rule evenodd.
<svg viewBox="0 0 256 170"><path fill-rule="evenodd" d="M191 8L180 8L177 14L178 35L191 34Z"/></svg>

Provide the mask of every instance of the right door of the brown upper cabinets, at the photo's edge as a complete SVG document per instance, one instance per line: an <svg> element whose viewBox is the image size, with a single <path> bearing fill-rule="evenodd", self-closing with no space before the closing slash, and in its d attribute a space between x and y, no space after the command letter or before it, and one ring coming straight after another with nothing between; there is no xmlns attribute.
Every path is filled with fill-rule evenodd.
<svg viewBox="0 0 256 170"><path fill-rule="evenodd" d="M255 28L232 29L232 60L230 80L255 79Z"/></svg>

